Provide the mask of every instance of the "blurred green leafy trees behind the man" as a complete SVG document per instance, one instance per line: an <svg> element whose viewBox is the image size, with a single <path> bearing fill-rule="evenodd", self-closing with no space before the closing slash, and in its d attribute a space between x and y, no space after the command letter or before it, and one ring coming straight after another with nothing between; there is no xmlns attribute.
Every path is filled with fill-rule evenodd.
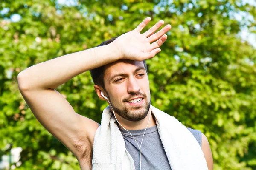
<svg viewBox="0 0 256 170"><path fill-rule="evenodd" d="M10 149L20 148L20 158L11 156L18 170L79 169L33 116L17 74L95 47L148 16L147 28L160 19L172 25L162 51L146 61L152 105L207 136L215 170L256 170L255 0L0 0L2 168ZM77 113L100 122L107 103L89 72L57 90Z"/></svg>

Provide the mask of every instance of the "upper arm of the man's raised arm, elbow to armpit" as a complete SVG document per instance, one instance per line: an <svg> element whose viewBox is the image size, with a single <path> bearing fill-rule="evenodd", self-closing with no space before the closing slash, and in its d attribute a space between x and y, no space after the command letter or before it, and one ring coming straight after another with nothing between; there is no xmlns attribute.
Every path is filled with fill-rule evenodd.
<svg viewBox="0 0 256 170"><path fill-rule="evenodd" d="M88 152L98 123L77 114L54 89L21 90L21 94L38 121L76 157Z"/></svg>

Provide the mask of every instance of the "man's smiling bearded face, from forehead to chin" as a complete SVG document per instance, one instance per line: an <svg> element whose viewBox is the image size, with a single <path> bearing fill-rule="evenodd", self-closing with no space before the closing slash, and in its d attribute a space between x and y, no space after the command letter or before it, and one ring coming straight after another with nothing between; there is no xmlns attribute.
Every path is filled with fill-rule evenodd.
<svg viewBox="0 0 256 170"><path fill-rule="evenodd" d="M151 98L143 62L122 59L106 65L104 82L115 113L129 121L147 116Z"/></svg>

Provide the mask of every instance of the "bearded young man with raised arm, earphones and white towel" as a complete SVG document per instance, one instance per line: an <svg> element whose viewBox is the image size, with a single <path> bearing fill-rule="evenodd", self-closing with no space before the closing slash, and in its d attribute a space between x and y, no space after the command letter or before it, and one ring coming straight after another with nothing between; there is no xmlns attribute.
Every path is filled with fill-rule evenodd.
<svg viewBox="0 0 256 170"><path fill-rule="evenodd" d="M171 26L155 33L163 25L160 20L140 34L150 20L146 18L133 31L109 44L42 62L18 75L20 92L29 108L76 156L81 170L178 170L207 169L207 166L213 169L207 138L200 133L202 138L197 142L195 134L192 135L195 131L190 133L175 118L151 106L144 60L160 52ZM97 95L110 105L104 110L100 126L75 113L55 90L88 70ZM125 129L133 133L134 139ZM143 134L145 139L139 147L143 139L140 131L147 133Z"/></svg>

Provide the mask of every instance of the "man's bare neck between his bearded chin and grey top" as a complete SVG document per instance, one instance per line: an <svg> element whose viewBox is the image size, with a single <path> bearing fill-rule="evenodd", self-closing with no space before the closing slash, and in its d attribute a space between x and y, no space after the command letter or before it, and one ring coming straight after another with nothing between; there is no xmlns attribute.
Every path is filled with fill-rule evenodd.
<svg viewBox="0 0 256 170"><path fill-rule="evenodd" d="M118 122L126 130L140 130L140 129L145 129L147 125L148 125L148 127L152 127L152 126L156 125L156 122L154 120L154 116L151 113L151 109L149 109L148 114L144 119L142 119L140 121L135 121L135 122L124 119L116 113L115 113L115 115L116 115L116 119L118 120ZM148 123L148 119L149 119L149 123ZM119 127L121 127L123 129L122 126L119 125Z"/></svg>

